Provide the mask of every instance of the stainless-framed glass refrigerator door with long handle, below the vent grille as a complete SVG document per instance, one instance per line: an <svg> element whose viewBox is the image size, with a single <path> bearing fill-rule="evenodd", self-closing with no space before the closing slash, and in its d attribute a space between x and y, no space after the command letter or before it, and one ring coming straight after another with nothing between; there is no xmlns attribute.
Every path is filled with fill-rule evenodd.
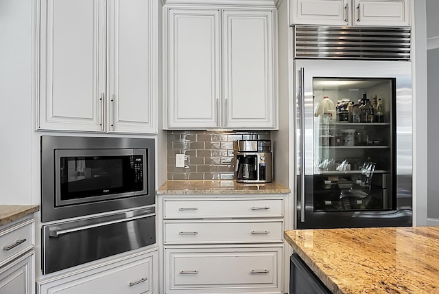
<svg viewBox="0 0 439 294"><path fill-rule="evenodd" d="M294 71L296 228L410 223L411 63L295 60ZM357 104L364 92L370 100L374 94L383 98L386 121L341 122L337 102L346 98ZM318 109L325 95L335 105L328 125ZM378 136L367 145L367 133L389 139ZM372 194L375 199L366 202Z"/></svg>

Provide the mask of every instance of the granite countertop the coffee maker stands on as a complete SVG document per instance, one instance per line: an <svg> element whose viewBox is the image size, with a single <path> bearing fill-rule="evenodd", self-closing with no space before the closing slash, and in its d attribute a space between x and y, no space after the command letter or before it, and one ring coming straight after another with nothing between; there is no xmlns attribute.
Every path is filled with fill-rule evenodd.
<svg viewBox="0 0 439 294"><path fill-rule="evenodd" d="M236 181L167 181L157 194L286 194L289 189L272 183L237 183Z"/></svg>

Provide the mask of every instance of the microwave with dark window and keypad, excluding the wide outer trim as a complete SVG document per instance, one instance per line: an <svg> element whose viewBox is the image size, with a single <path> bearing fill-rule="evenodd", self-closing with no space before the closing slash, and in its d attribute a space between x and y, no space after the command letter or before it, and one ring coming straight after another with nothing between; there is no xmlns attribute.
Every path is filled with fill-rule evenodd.
<svg viewBox="0 0 439 294"><path fill-rule="evenodd" d="M145 149L55 150L55 205L147 194Z"/></svg>

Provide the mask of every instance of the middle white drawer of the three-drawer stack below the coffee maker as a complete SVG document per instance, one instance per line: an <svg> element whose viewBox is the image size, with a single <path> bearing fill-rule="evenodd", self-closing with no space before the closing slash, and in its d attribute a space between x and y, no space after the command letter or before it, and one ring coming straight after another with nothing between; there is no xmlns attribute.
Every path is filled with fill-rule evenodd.
<svg viewBox="0 0 439 294"><path fill-rule="evenodd" d="M165 221L163 235L165 244L283 242L283 221Z"/></svg>

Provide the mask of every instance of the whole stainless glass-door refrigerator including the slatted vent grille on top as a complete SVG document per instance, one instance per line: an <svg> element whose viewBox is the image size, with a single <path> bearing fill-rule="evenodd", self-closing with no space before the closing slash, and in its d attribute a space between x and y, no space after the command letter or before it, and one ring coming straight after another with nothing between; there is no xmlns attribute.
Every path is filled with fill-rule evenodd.
<svg viewBox="0 0 439 294"><path fill-rule="evenodd" d="M410 29L297 26L294 40L295 227L411 226Z"/></svg>

